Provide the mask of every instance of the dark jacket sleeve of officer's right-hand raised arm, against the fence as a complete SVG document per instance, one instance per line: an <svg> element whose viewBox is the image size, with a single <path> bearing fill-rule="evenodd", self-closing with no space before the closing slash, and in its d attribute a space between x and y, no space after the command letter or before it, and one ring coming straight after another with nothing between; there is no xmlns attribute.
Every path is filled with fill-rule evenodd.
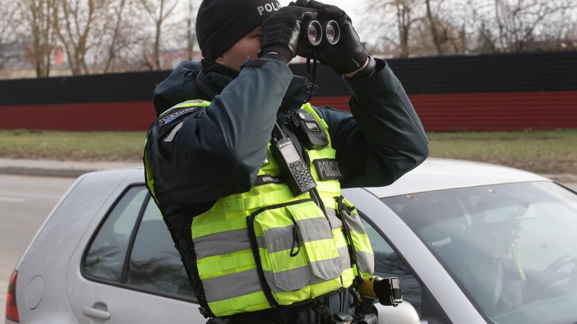
<svg viewBox="0 0 577 324"><path fill-rule="evenodd" d="M345 179L343 188L386 186L427 159L427 135L384 60L368 78L348 79L352 114L321 108Z"/></svg>

